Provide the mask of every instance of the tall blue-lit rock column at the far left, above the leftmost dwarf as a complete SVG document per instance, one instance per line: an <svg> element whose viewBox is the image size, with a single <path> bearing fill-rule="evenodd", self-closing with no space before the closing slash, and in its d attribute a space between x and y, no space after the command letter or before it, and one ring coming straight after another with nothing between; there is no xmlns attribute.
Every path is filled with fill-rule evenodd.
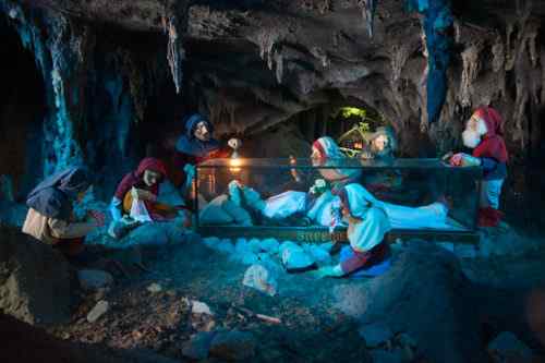
<svg viewBox="0 0 545 363"><path fill-rule="evenodd" d="M5 7L7 2L3 2ZM85 26L62 15L26 12L9 4L12 25L23 45L34 52L44 76L48 113L44 120L44 173L81 164L83 152L78 130L85 121L85 72L93 35ZM4 9L5 10L5 9Z"/></svg>

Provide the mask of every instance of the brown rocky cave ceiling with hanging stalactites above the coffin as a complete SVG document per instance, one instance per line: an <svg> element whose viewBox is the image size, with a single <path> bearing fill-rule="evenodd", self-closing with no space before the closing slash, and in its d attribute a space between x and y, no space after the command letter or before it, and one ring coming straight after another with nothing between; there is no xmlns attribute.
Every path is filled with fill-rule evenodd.
<svg viewBox="0 0 545 363"><path fill-rule="evenodd" d="M362 104L400 133L452 141L473 107L492 104L512 131L508 143L523 148L545 101L545 4L455 2L452 23L437 32L452 55L440 87L428 83L440 61L424 28L434 3L446 1L23 1L92 27L113 24L135 39L162 34L179 90L198 89L198 107L219 132L253 133L324 105ZM445 104L429 128L428 95L437 93Z"/></svg>

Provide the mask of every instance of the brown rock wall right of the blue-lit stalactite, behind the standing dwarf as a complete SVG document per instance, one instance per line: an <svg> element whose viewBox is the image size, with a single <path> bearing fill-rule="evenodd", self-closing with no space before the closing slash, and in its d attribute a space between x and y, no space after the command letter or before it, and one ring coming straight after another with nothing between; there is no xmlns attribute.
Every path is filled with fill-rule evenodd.
<svg viewBox="0 0 545 363"><path fill-rule="evenodd" d="M531 1L513 2L512 9L484 14L482 24L455 22L458 51L448 71L443 122L435 130L439 143L455 138L463 126L450 120L467 120L475 106L492 105L504 116L513 159L543 156L545 38L543 15L534 10Z"/></svg>

